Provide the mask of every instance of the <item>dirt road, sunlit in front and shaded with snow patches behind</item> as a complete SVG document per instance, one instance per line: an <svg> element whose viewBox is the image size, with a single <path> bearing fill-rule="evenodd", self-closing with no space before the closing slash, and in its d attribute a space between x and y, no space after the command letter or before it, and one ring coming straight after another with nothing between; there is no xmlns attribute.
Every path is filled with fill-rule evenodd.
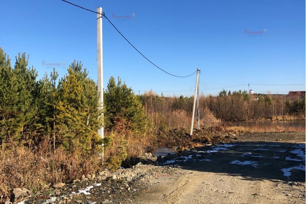
<svg viewBox="0 0 306 204"><path fill-rule="evenodd" d="M244 137L244 142L166 161L178 170L157 178L159 183L140 192L134 201L305 203L305 133Z"/></svg>

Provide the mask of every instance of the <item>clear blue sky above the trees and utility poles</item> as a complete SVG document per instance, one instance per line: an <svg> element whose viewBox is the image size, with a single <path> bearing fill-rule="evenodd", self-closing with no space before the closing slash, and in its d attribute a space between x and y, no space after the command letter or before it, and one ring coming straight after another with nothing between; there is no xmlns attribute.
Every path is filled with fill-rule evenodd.
<svg viewBox="0 0 306 204"><path fill-rule="evenodd" d="M200 91L204 94L217 94L221 88L212 89L215 87L247 83L255 92L305 90L304 85L252 85L305 84L303 0L70 2L95 11L102 7L122 34L167 72L189 75L200 68ZM120 16L131 18L117 20ZM76 59L82 61L90 78L97 80L95 13L60 0L2 0L0 29L0 46L12 62L19 52L26 52L39 78L52 70L42 61L65 61L68 66ZM192 95L194 91L195 75L176 78L155 68L106 19L103 68L105 87L110 76L120 76L136 93L153 89L165 95ZM60 76L67 72L62 67L56 70ZM248 86L226 89L247 90Z"/></svg>

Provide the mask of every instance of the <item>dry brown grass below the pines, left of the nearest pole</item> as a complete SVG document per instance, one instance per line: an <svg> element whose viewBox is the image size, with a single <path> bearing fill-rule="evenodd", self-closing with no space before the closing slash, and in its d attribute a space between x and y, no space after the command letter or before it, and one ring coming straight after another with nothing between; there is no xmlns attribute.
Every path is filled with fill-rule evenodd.
<svg viewBox="0 0 306 204"><path fill-rule="evenodd" d="M51 151L47 142L36 150L28 147L2 146L0 150L0 202L8 199L11 189L25 187L32 191L48 189L57 182L71 182L99 169L97 155L84 156L79 150L74 153L57 149Z"/></svg>

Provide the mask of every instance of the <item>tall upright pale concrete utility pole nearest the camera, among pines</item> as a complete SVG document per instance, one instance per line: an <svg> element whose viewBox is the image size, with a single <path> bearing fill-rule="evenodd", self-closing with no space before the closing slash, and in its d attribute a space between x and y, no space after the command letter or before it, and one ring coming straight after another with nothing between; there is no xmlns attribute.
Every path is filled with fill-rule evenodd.
<svg viewBox="0 0 306 204"><path fill-rule="evenodd" d="M98 14L101 13L101 14ZM99 95L99 110L103 109L103 47L102 47L102 8L97 8L97 61L98 61L98 94ZM104 139L104 119L103 113L102 127L98 130L98 135ZM102 157L104 157L104 143L102 143Z"/></svg>

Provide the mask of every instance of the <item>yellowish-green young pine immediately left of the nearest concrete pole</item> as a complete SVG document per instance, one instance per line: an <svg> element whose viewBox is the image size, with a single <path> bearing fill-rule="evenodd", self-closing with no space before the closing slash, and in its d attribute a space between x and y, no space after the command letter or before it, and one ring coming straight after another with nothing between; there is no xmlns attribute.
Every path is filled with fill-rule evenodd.
<svg viewBox="0 0 306 204"><path fill-rule="evenodd" d="M82 70L82 65L74 61L59 83L60 100L55 116L58 145L69 150L81 147L89 152L102 143L97 133L101 125L98 90L87 75L86 69Z"/></svg>

